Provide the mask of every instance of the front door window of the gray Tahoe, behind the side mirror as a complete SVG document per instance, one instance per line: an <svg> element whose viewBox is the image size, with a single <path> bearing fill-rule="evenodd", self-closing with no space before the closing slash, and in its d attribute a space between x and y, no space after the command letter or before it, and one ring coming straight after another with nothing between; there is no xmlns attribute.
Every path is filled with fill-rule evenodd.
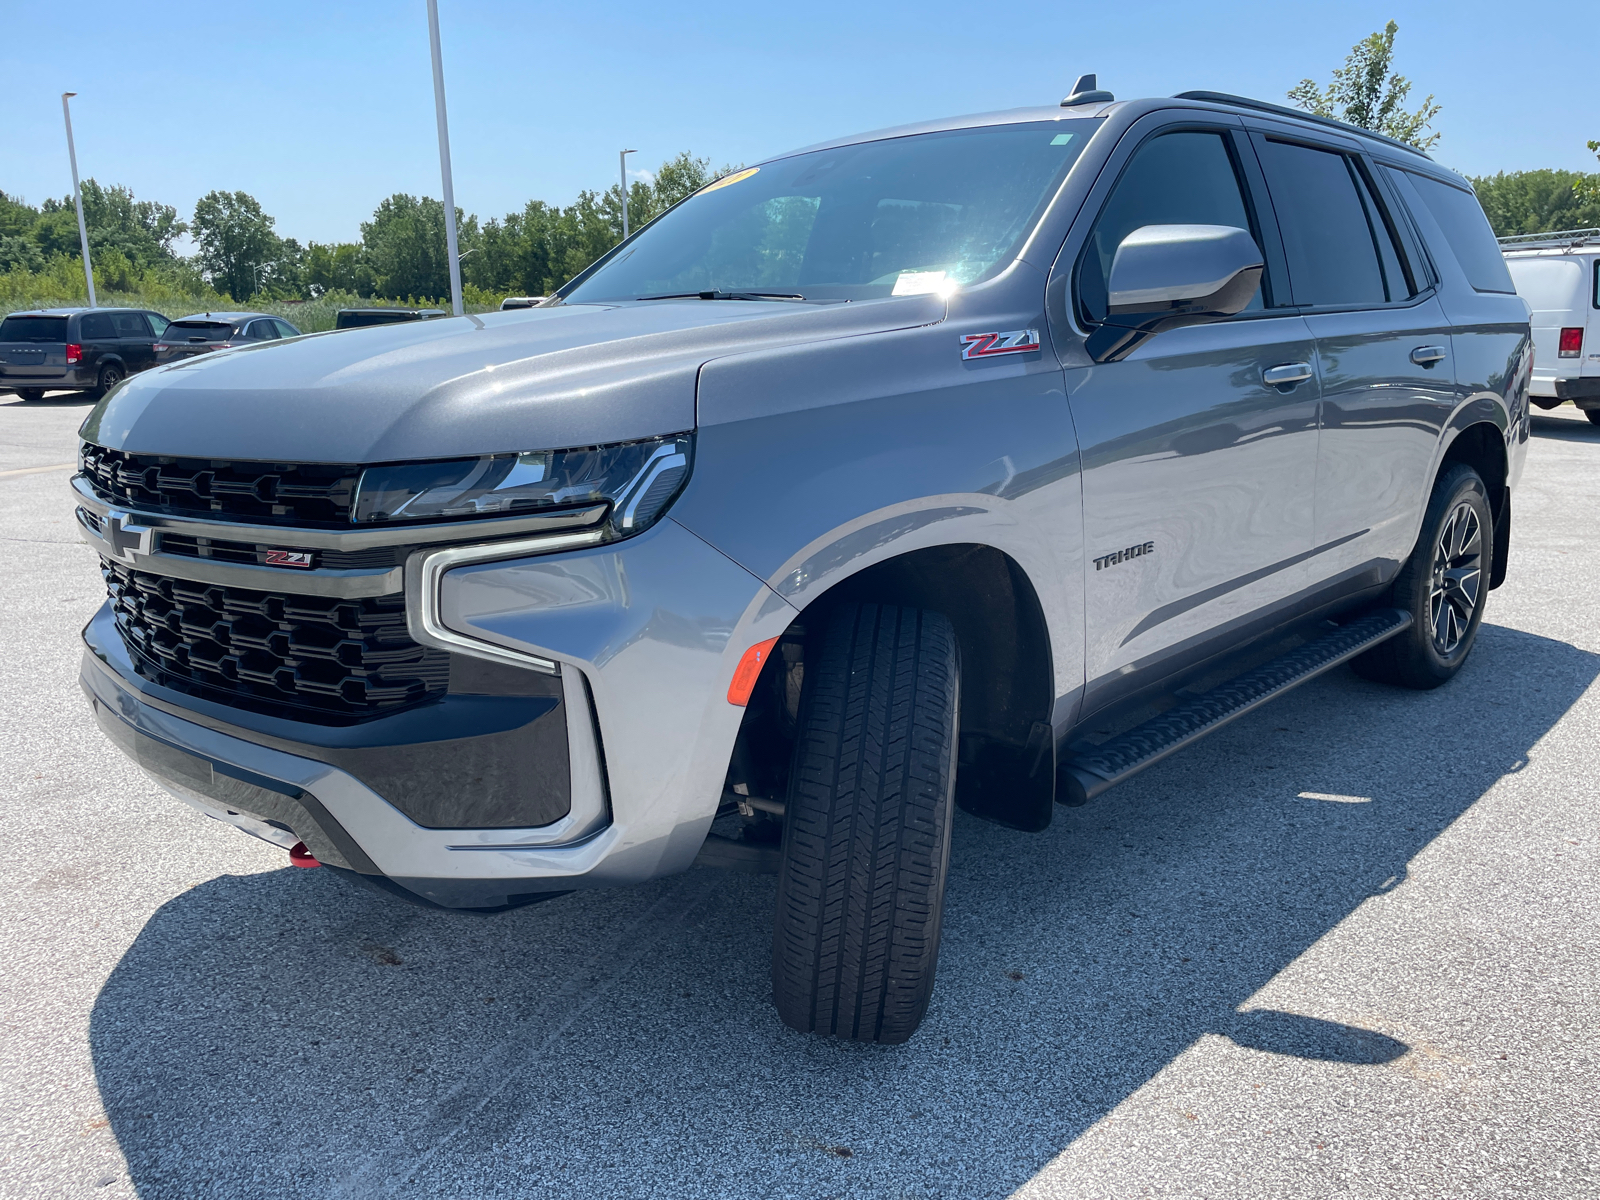
<svg viewBox="0 0 1600 1200"><path fill-rule="evenodd" d="M1122 240L1142 226L1234 226L1248 229L1261 245L1221 133L1163 133L1128 160L1078 261L1078 306L1085 320L1106 318L1110 262ZM1261 306L1258 291L1246 312Z"/></svg>

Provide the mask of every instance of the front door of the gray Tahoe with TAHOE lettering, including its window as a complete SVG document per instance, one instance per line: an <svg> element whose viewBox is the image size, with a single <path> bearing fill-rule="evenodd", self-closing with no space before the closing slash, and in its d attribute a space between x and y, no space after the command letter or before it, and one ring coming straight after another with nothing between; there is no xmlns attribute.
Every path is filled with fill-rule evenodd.
<svg viewBox="0 0 1600 1200"><path fill-rule="evenodd" d="M1078 259L1080 318L1104 315L1106 274L1134 229L1232 226L1261 245L1246 154L1222 128L1147 138ZM1083 462L1085 714L1250 637L1306 586L1315 346L1299 314L1269 307L1267 261L1266 294L1237 317L1067 370Z"/></svg>

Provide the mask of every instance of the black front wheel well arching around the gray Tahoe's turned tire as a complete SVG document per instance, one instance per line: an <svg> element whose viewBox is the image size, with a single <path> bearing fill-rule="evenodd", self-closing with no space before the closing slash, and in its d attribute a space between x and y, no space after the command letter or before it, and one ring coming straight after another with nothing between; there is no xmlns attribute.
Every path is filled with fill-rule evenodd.
<svg viewBox="0 0 1600 1200"><path fill-rule="evenodd" d="M728 784L746 784L752 795L787 787L798 707L795 667L803 664L806 630L821 629L827 611L842 603L906 605L949 618L962 651L957 803L1014 829L1050 824L1050 630L1027 574L992 546L912 550L853 574L808 603L757 680ZM782 758L781 770L776 758Z"/></svg>

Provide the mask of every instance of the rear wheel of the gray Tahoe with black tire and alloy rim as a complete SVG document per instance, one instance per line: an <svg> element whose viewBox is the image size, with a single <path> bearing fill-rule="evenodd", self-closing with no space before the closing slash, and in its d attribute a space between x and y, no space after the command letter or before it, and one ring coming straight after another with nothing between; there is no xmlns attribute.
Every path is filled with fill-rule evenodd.
<svg viewBox="0 0 1600 1200"><path fill-rule="evenodd" d="M1389 590L1387 603L1411 613L1411 627L1355 658L1357 674L1418 690L1448 683L1477 642L1493 562L1488 488L1454 462L1434 483L1416 549Z"/></svg>

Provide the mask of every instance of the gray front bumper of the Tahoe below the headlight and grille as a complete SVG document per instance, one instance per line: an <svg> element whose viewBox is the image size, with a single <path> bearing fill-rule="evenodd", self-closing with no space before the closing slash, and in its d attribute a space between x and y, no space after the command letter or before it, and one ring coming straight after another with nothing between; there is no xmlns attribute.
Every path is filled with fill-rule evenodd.
<svg viewBox="0 0 1600 1200"><path fill-rule="evenodd" d="M418 566L406 566L408 587ZM85 629L82 683L110 739L189 803L269 840L282 842L264 830L293 832L320 861L429 904L499 909L688 869L742 715L726 701L733 669L795 610L670 520L611 546L434 570L429 581L429 611L454 653L557 667L571 778L558 821L440 827L397 795L448 741L429 731L437 706L389 718L387 749L402 763L384 776L341 758L328 742L346 734L328 726L246 714L142 677L109 606ZM467 773L456 784L470 808L480 779Z"/></svg>

